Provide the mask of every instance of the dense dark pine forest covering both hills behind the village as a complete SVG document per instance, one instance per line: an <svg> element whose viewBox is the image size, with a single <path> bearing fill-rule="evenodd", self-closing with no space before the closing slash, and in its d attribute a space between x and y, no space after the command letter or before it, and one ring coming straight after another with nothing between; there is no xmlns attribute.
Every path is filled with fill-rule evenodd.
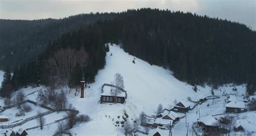
<svg viewBox="0 0 256 136"><path fill-rule="evenodd" d="M89 15L66 19L69 22L77 22L79 19L83 22L87 16ZM66 83L72 86L78 84L82 78L91 83L97 71L104 68L108 51L104 44L110 42L122 45L126 52L150 64L172 70L178 79L193 85L207 83L217 87L226 83L247 83L249 93L252 94L255 90L256 32L244 24L158 9L127 10L90 16L98 16L100 19L92 19L90 23L76 26L76 23L68 23L65 27L60 26L65 24L65 19L28 21L28 29L25 31L17 29L23 21L8 21L17 28L5 34L3 32L8 30L0 29L0 46L4 49L1 50L4 56L1 65L16 67L11 80L12 86L18 88L29 84L48 85L50 78L46 75L49 75L49 67L46 66L49 66L51 58L57 52L65 49L83 49L87 54L85 65L77 63ZM1 21L0 24L3 22L7 21ZM29 26L33 24L38 29L38 22L55 25L38 31L40 35L35 35L34 29ZM63 28L65 30L60 30ZM58 30L53 31L55 29ZM22 37L24 33L26 38ZM10 35L13 37L6 38ZM13 42L15 38L17 39ZM9 53L9 57L4 53ZM12 60L22 60L24 63L14 65L16 63L11 62ZM75 79L79 80L74 81Z"/></svg>

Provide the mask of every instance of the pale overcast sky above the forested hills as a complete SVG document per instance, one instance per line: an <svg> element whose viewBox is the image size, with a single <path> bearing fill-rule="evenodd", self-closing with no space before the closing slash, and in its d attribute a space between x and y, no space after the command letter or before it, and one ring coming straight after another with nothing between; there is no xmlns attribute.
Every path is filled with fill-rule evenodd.
<svg viewBox="0 0 256 136"><path fill-rule="evenodd" d="M0 18L63 18L79 13L138 8L190 11L244 23L256 30L256 0L0 0Z"/></svg>

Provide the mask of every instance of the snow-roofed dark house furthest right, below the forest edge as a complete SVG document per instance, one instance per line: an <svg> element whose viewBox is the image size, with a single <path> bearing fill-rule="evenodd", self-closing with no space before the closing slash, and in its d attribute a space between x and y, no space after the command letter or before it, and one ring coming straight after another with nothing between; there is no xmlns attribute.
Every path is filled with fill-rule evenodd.
<svg viewBox="0 0 256 136"><path fill-rule="evenodd" d="M246 112L245 103L242 101L231 101L225 105L227 113Z"/></svg>

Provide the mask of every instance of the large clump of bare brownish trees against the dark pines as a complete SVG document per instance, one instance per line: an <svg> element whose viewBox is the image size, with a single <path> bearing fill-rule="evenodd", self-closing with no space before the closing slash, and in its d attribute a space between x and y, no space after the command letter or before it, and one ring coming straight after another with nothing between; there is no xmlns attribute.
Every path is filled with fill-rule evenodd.
<svg viewBox="0 0 256 136"><path fill-rule="evenodd" d="M52 87L67 86L75 67L79 65L83 69L87 58L88 55L84 49L67 48L57 51L44 62L45 84Z"/></svg>

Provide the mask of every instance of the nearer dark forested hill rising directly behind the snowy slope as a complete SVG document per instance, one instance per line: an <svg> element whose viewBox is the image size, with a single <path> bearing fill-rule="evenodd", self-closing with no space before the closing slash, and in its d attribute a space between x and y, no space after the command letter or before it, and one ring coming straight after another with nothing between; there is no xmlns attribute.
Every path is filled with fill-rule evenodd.
<svg viewBox="0 0 256 136"><path fill-rule="evenodd" d="M111 20L66 33L41 55L41 62L62 48L89 47L91 65L86 69L93 72L86 71L85 78L89 73L93 81L91 78L105 63L97 62L105 56L102 52L105 49L100 46L113 42L122 44L123 49L134 56L172 70L174 76L188 83L209 83L215 87L225 83L248 83L250 89L255 90L256 32L244 24L157 9L127 10L116 15ZM44 65L37 61L29 64ZM25 74L30 65L23 65L18 71Z"/></svg>

